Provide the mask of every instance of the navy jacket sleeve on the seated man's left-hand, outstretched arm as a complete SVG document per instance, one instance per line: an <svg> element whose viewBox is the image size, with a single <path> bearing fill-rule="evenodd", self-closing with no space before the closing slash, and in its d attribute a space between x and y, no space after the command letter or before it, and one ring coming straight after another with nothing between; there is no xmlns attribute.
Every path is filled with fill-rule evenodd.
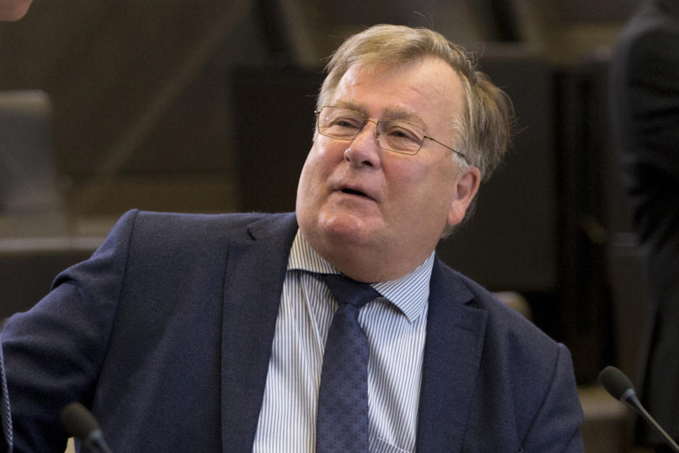
<svg viewBox="0 0 679 453"><path fill-rule="evenodd" d="M125 214L93 256L60 273L52 291L2 331L14 452L64 452L59 413L89 406L115 321L137 212Z"/></svg>

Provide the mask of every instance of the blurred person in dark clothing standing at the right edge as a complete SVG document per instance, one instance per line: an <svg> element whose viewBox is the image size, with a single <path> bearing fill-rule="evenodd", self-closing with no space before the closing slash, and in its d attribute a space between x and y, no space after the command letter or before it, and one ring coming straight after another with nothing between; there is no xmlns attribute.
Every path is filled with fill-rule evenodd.
<svg viewBox="0 0 679 453"><path fill-rule="evenodd" d="M642 403L679 441L679 1L648 0L620 34L611 72L623 182L654 306ZM638 443L670 452L640 419Z"/></svg>

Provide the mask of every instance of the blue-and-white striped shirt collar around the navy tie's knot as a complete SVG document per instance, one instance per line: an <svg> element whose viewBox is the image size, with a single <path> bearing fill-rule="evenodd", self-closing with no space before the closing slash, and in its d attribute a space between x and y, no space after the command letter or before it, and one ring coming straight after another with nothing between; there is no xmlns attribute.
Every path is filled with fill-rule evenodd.
<svg viewBox="0 0 679 453"><path fill-rule="evenodd" d="M424 312L426 307L426 302L429 299L429 280L433 267L434 252L431 252L424 263L411 273L396 280L373 283L371 286L377 289L389 302L397 306L405 314L408 321L412 323ZM311 248L299 230L297 230L297 235L290 249L288 270L306 270L322 274L340 273Z"/></svg>

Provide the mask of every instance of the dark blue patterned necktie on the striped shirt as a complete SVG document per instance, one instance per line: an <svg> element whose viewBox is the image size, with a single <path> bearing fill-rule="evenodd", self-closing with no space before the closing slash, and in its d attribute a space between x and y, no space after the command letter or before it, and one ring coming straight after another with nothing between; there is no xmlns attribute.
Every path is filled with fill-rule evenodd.
<svg viewBox="0 0 679 453"><path fill-rule="evenodd" d="M325 341L318 391L316 453L368 452L368 338L359 309L380 294L367 283L325 275L340 306Z"/></svg>

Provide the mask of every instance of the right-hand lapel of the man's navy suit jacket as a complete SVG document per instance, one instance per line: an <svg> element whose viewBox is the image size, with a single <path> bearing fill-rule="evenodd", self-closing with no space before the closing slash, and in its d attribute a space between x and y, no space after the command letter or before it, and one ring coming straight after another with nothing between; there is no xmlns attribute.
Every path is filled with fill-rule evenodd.
<svg viewBox="0 0 679 453"><path fill-rule="evenodd" d="M487 313L439 260L431 274L417 452L458 452L481 362Z"/></svg>

